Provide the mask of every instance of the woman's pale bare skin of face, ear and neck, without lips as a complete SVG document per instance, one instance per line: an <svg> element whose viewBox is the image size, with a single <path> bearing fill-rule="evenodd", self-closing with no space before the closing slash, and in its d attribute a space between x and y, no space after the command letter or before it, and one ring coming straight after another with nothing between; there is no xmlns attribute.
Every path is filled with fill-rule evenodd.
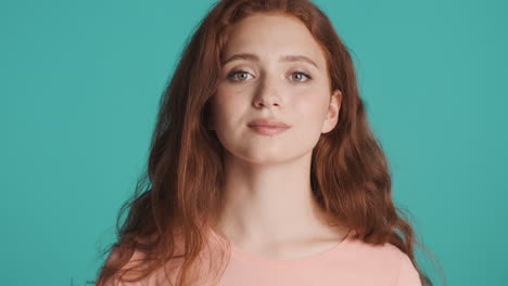
<svg viewBox="0 0 508 286"><path fill-rule="evenodd" d="M213 99L212 129L226 150L227 194L214 229L236 247L265 258L323 252L348 230L328 225L314 202L310 158L319 136L338 123L342 93L330 92L325 54L297 18L255 14L230 32L225 62L237 54L257 60L227 61ZM279 61L285 55L303 55L315 65ZM291 128L258 134L247 122L259 117Z"/></svg>

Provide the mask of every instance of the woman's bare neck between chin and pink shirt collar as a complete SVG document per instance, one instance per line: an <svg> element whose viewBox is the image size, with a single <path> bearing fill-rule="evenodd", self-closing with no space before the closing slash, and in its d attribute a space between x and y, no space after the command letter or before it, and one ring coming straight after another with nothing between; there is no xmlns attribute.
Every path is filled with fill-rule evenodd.
<svg viewBox="0 0 508 286"><path fill-rule="evenodd" d="M330 231L310 187L312 153L255 165L225 157L225 205L217 223L237 244L268 244Z"/></svg>

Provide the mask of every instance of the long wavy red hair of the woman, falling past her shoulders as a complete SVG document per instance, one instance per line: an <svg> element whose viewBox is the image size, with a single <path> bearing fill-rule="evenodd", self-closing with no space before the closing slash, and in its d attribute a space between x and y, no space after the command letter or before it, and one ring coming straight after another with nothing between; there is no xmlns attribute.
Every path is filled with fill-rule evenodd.
<svg viewBox="0 0 508 286"><path fill-rule="evenodd" d="M117 242L104 251L111 255L99 271L97 285L127 273L136 275L125 275L125 281L139 281L175 259L182 261L177 285L190 285L192 264L206 242L204 226L217 218L224 203L224 147L207 128L209 101L228 30L253 13L302 21L322 48L331 91L342 92L339 122L321 134L313 152L315 199L331 221L353 229L355 238L396 246L410 258L422 284L432 285L416 263L414 246L420 244L412 226L394 206L389 165L369 129L347 47L323 12L307 0L224 0L200 23L161 99L148 170L118 214ZM128 216L120 223L127 208ZM177 237L183 242L181 251ZM126 268L135 251L141 256Z"/></svg>

